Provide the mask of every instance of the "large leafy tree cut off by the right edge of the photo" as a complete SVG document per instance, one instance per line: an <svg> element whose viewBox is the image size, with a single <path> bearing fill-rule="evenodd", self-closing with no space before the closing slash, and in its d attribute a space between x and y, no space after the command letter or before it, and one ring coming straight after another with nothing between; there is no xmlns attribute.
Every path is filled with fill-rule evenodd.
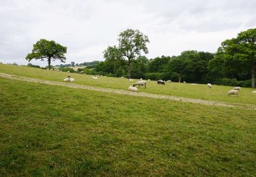
<svg viewBox="0 0 256 177"><path fill-rule="evenodd" d="M236 38L225 40L211 63L221 63L231 76L251 71L251 86L255 87L256 29L248 29L238 33Z"/></svg>

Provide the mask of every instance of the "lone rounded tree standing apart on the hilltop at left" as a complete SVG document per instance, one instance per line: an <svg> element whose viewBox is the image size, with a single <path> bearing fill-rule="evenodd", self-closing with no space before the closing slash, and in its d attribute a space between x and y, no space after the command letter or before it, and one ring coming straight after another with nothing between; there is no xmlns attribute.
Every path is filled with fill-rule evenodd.
<svg viewBox="0 0 256 177"><path fill-rule="evenodd" d="M38 42L33 44L33 50L27 54L26 60L31 61L32 59L44 61L47 59L48 68L51 67L51 61L60 60L65 63L67 48L55 43L53 40L48 41L46 39L40 39Z"/></svg>

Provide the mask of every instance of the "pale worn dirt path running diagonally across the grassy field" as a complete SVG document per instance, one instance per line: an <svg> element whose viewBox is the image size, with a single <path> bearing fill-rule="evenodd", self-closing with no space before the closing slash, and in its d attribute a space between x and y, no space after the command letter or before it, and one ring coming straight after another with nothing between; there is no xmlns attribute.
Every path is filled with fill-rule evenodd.
<svg viewBox="0 0 256 177"><path fill-rule="evenodd" d="M70 88L81 88L81 89L90 90L90 91L116 93L116 94L120 94L120 95L131 95L131 96L136 96L136 97L147 97L147 98L154 98L154 99L169 99L172 101L183 101L183 102L187 102L187 103L199 103L199 104L208 105L208 106L221 106L221 107L228 107L228 108L243 108L243 109L249 109L249 110L256 110L255 105L244 104L244 103L227 103L227 102L223 102L223 101L191 99L191 98L186 98L186 97L175 97L175 96L169 96L169 95L158 95L158 94L143 93L143 92L136 93L136 92L118 90L118 89L113 89L113 88L100 88L100 87L95 87L95 86L68 84L66 82L55 82L55 81L51 81L51 80L27 78L27 77L23 77L23 76L16 76L13 74L5 74L5 73L0 73L0 77L9 78L12 80L23 80L26 82L36 82L36 83L41 83L41 84L67 86Z"/></svg>

